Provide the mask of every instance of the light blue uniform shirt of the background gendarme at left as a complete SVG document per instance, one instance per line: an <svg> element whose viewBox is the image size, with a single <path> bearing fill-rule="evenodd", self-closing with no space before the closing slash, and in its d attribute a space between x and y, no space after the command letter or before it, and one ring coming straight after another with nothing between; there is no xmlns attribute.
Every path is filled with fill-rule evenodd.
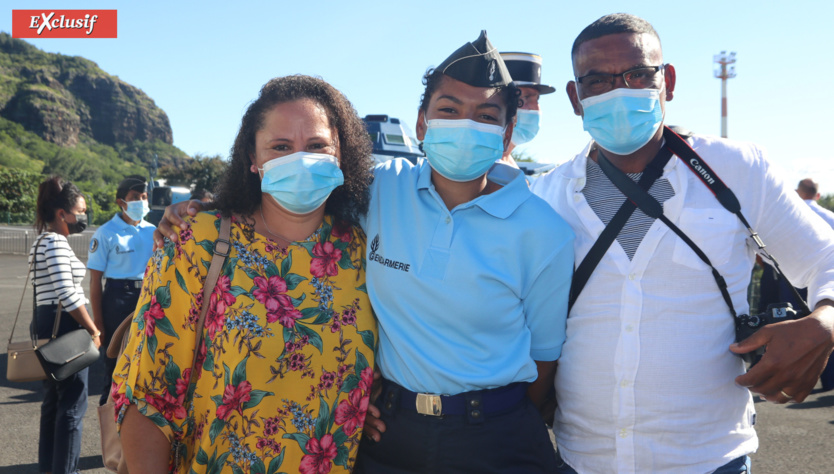
<svg viewBox="0 0 834 474"><path fill-rule="evenodd" d="M87 268L104 272L104 278L141 280L153 253L154 229L145 220L130 225L117 213L93 234Z"/></svg>

